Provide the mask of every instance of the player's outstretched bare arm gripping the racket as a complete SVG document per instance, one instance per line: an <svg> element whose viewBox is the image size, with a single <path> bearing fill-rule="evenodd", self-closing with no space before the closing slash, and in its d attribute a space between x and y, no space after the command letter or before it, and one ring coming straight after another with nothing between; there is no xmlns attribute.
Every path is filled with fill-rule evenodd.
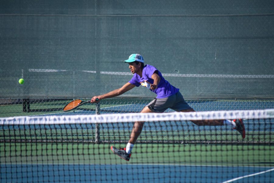
<svg viewBox="0 0 274 183"><path fill-rule="evenodd" d="M123 93L127 92L128 90L131 90L134 87L135 87L134 84L126 83L121 88L118 88L116 90L110 91L110 92L108 92L106 94L103 94L103 95L94 96L90 100L90 102L91 103L93 103L93 102L99 102L101 99L107 99L107 98L112 98L112 97L116 97L116 96L122 95ZM96 101L97 98L99 99L98 101Z"/></svg>

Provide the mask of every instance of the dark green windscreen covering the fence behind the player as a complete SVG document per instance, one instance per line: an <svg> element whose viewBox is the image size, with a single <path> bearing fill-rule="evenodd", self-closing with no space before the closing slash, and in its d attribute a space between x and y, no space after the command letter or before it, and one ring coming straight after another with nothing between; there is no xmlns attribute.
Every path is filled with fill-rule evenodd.
<svg viewBox="0 0 274 183"><path fill-rule="evenodd" d="M186 99L274 98L273 1L39 2L1 3L0 98L103 94L132 53ZM122 97L155 97L140 88Z"/></svg>

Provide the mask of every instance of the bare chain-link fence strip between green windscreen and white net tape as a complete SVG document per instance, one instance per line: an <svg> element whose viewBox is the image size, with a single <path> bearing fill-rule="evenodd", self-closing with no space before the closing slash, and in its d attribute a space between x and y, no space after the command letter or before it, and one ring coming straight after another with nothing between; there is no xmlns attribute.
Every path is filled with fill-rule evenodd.
<svg viewBox="0 0 274 183"><path fill-rule="evenodd" d="M103 99L99 104L85 104L73 111L63 112L65 104L73 99L0 99L0 117L66 115L66 114L103 114L138 113L152 99L113 98ZM89 100L89 99L83 99ZM186 100L196 111L212 110L252 110L273 109L274 100L246 99L196 99ZM168 109L166 112L172 112Z"/></svg>

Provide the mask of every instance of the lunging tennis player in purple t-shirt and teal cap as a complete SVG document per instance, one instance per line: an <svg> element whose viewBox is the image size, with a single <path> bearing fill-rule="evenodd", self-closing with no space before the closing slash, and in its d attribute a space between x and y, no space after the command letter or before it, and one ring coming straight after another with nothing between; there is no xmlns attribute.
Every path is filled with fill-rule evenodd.
<svg viewBox="0 0 274 183"><path fill-rule="evenodd" d="M165 80L158 69L151 65L144 66L144 59L141 55L132 54L124 62L129 64L129 69L133 74L132 79L119 89L113 90L103 95L94 96L91 99L92 103L99 102L101 99L107 99L122 95L123 93L131 90L135 86L139 87L140 85L142 85L150 91L156 93L157 97L147 106L145 106L142 109L141 113L162 113L168 108L181 112L195 112L185 102L179 89L175 88L167 80ZM96 101L97 98L99 99L99 101ZM192 122L198 126L231 125L234 127L234 129L240 132L242 138L245 137L244 124L241 119L195 120ZM132 148L142 131L143 125L144 122L135 122L127 146L121 149L116 149L115 147L111 146L111 150L114 152L114 154L120 156L124 160L129 161Z"/></svg>

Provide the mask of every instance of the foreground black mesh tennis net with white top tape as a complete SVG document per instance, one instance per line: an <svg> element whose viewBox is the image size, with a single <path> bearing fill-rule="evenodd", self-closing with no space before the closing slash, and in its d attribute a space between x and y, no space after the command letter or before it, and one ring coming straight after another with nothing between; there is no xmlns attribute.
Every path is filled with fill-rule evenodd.
<svg viewBox="0 0 274 183"><path fill-rule="evenodd" d="M232 126L195 120L242 119ZM0 118L1 182L271 182L274 109ZM145 121L129 161L135 121Z"/></svg>

